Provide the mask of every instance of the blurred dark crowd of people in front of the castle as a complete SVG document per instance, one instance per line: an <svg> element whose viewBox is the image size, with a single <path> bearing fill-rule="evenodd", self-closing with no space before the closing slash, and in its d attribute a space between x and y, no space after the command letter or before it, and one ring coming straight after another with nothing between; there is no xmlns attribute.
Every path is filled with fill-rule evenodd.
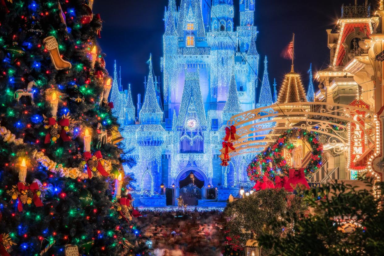
<svg viewBox="0 0 384 256"><path fill-rule="evenodd" d="M141 211L137 224L151 239L154 256L221 255L224 219L220 211Z"/></svg>

